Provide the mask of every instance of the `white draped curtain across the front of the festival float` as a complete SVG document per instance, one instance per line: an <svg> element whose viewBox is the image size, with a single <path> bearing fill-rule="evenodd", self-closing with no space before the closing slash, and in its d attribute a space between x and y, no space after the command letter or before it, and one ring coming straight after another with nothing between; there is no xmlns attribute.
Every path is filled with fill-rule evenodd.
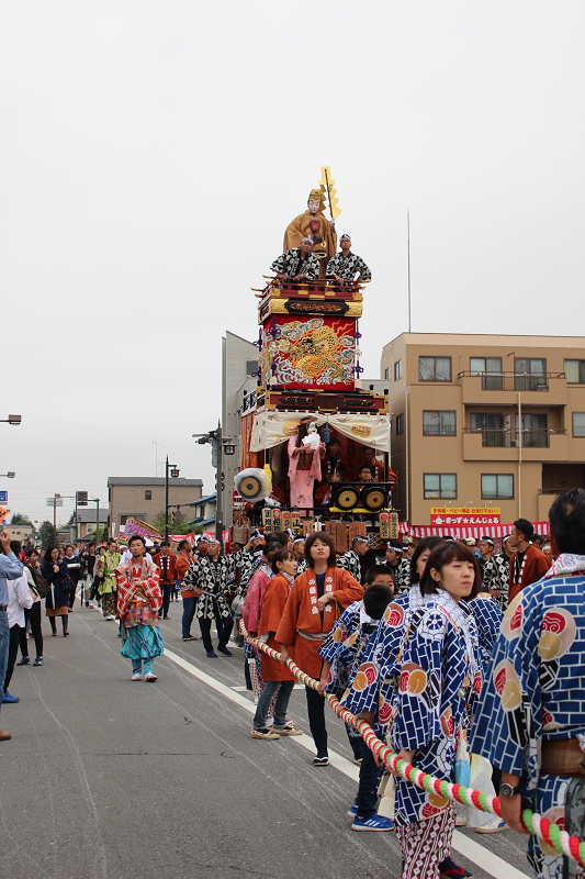
<svg viewBox="0 0 585 879"><path fill-rule="evenodd" d="M315 412L258 412L254 419L250 452L261 452L286 443L299 430L299 422L311 418L322 427L329 426L342 436L372 446L379 452L390 452L390 415L380 414L336 414L322 415Z"/></svg>

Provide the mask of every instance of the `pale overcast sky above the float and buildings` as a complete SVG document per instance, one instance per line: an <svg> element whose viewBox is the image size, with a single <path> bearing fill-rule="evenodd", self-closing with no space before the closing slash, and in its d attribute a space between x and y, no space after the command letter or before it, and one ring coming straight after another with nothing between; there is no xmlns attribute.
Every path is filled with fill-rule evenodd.
<svg viewBox="0 0 585 879"><path fill-rule="evenodd" d="M407 329L583 332L582 0L0 3L0 479L106 500L191 434L221 337L329 165L373 271L365 377ZM70 512L65 505L60 519Z"/></svg>

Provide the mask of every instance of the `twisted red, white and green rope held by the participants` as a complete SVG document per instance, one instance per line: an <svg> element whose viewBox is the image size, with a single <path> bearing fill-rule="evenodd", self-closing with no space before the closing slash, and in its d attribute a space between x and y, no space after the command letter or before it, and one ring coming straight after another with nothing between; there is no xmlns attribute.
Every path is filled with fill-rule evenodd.
<svg viewBox="0 0 585 879"><path fill-rule="evenodd" d="M259 638L251 638L248 635L244 622L240 621L239 625L248 644L263 650L273 659L280 659L280 654L277 650L273 650L272 647L269 647ZM292 659L286 660L286 666L301 683L304 683L305 687L311 687L313 690L317 689L318 681L311 678L304 671L301 671ZM429 793L439 793L441 797L452 800L453 802L471 805L474 809L481 809L483 812L491 812L502 817L499 797L493 797L490 793L465 788L462 785L434 778L434 776L426 775L419 769L416 769L416 767L412 766L406 760L400 760L395 753L378 738L372 727L365 723L365 721L359 721L351 712L345 709L337 697L333 693L326 693L325 698L335 713L345 723L349 723L359 732L374 756L380 757L386 766L392 767L407 781L412 781ZM561 831L556 824L551 824L550 821L532 812L531 809L525 809L522 811L522 822L528 831L540 836L541 839L544 839L544 842L551 845L559 854L566 855L566 857L573 858L582 866L585 866L585 843L581 843L577 836L570 836L566 831Z"/></svg>

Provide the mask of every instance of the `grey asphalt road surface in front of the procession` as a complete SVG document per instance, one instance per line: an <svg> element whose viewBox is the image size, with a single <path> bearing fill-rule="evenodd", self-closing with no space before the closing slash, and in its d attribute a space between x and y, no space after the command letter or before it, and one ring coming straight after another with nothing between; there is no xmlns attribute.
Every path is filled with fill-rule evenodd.
<svg viewBox="0 0 585 879"><path fill-rule="evenodd" d="M398 879L393 833L356 833L357 767L331 712L325 769L308 737L250 738L243 655L210 660L161 626L157 683L130 680L114 623L87 610L45 639L45 666L16 668L0 747L2 879ZM49 633L44 626L45 635ZM308 730L305 697L290 716ZM511 832L455 834L474 879L528 876ZM459 854L464 852L465 855Z"/></svg>

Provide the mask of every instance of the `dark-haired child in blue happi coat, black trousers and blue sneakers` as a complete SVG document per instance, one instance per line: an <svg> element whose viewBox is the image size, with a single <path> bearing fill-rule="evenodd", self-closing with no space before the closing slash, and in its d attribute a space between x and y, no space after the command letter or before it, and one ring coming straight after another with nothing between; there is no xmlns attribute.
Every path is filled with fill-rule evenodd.
<svg viewBox="0 0 585 879"><path fill-rule="evenodd" d="M362 600L355 601L344 611L319 649L323 669L318 691L322 696L329 692L340 699L346 691L359 667L361 648L394 597L393 585L394 577L386 565L373 565L368 570ZM376 813L382 769L375 765L373 754L360 734L347 724L346 730L360 767L358 797L350 809L352 830L391 831L394 826L392 821Z"/></svg>

